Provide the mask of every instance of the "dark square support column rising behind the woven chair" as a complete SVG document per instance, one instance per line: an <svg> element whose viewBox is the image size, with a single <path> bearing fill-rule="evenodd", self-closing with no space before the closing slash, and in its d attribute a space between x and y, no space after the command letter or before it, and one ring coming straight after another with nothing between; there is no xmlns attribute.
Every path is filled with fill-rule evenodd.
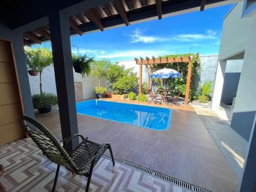
<svg viewBox="0 0 256 192"><path fill-rule="evenodd" d="M49 15L52 53L62 138L78 133L69 17L59 12ZM78 138L68 149L74 149Z"/></svg>

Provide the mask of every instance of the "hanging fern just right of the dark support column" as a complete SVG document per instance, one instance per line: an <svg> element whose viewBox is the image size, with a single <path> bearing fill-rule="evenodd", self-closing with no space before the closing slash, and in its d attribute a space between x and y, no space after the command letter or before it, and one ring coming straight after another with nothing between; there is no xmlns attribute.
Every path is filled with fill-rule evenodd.
<svg viewBox="0 0 256 192"><path fill-rule="evenodd" d="M73 68L76 73L82 74L82 77L90 75L91 63L94 61L93 57L85 55L72 55Z"/></svg>

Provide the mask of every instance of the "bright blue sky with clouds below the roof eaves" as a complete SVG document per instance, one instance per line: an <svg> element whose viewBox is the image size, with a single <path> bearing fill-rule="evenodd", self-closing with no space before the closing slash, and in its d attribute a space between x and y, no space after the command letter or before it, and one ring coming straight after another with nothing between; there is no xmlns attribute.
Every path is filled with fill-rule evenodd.
<svg viewBox="0 0 256 192"><path fill-rule="evenodd" d="M223 18L233 5L71 37L72 52L112 62L166 54L219 53ZM49 46L46 42L43 46Z"/></svg>

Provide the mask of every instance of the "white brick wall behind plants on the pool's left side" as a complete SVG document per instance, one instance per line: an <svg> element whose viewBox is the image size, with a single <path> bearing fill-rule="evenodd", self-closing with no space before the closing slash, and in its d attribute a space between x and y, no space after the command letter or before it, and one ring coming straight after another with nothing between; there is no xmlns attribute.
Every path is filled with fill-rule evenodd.
<svg viewBox="0 0 256 192"><path fill-rule="evenodd" d="M83 99L96 97L94 88L98 86L98 78L89 76L82 79L81 74L76 73L74 69L73 72L74 82L82 82ZM35 93L40 93L39 74L37 76L29 75L29 83L32 95ZM106 81L106 79L101 79L100 84L103 87L108 87L108 81ZM46 68L44 73L42 73L42 91L57 94L53 66Z"/></svg>

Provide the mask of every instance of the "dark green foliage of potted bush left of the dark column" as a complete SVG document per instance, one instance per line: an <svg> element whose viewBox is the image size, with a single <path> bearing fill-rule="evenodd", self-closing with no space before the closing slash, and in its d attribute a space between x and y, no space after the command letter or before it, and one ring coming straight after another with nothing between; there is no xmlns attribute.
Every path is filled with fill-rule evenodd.
<svg viewBox="0 0 256 192"><path fill-rule="evenodd" d="M52 93L40 93L32 96L34 109L45 109L58 103L57 96Z"/></svg>

